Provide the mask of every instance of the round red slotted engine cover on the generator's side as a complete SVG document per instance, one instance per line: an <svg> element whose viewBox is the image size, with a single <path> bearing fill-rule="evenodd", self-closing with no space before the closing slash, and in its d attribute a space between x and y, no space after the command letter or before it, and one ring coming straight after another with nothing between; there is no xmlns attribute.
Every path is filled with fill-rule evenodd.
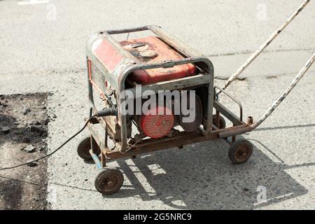
<svg viewBox="0 0 315 224"><path fill-rule="evenodd" d="M159 139L172 130L174 115L167 107L156 106L140 116L139 126L146 136Z"/></svg>

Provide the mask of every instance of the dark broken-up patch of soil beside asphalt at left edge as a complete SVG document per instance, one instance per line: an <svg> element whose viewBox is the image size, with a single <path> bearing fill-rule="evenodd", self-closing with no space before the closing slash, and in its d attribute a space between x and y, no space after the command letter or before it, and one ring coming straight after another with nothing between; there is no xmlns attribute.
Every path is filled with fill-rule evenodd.
<svg viewBox="0 0 315 224"><path fill-rule="evenodd" d="M48 94L0 95L0 167L46 153ZM47 208L47 160L0 171L0 209Z"/></svg>

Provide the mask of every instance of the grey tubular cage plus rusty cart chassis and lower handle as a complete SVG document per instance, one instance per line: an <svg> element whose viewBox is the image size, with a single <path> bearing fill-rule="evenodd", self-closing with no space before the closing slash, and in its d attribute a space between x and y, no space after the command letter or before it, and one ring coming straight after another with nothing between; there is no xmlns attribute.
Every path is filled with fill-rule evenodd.
<svg viewBox="0 0 315 224"><path fill-rule="evenodd" d="M169 62L161 62L161 63L151 63L151 64L144 64L143 62L137 61L130 52L125 50L113 37L111 37L112 34L125 34L130 32L136 32L136 31L144 31L144 30L150 30L155 35L157 35L159 38L162 38L163 41L171 45L174 49L181 52L181 54L185 55L186 58L180 59L177 61L169 61ZM94 57L91 47L92 43L97 38L106 38L107 41L109 41L115 48L118 49L118 51L121 53L121 55L124 56L124 59L118 67L111 73L105 69L104 66L102 66L102 63L99 62L99 60ZM188 63L202 63L202 69L203 73L200 73L197 76L190 76L186 78L180 78L177 80L169 80L165 82L155 83L151 85L144 85L142 87L142 91L145 90L153 90L157 92L158 90L175 90L175 89L182 89L187 87L194 87L197 85L207 85L208 87L208 111L207 111L207 123L204 125L204 127L200 127L199 130L187 133L187 132L181 132L177 134L174 137L163 137L162 139L142 139L141 142L135 143L130 147L129 144L127 144L127 125L126 125L126 117L123 116L118 111L118 123L121 127L121 142L118 143L120 147L116 147L114 149L110 149L107 146L107 137L108 132L112 132L108 128L108 125L106 124L106 118L94 118L91 123L87 125L87 128L90 131L91 136L94 139L94 142L101 148L102 155L101 155L101 161L95 157L93 154L93 151L90 151L92 158L94 158L97 165L100 167L100 164L102 166L106 165L105 160L106 159L118 159L118 158L124 158L124 157L133 157L135 155L141 154L141 153L148 153L153 151L162 150L165 148L173 148L173 147L179 147L193 144L201 141L208 141L211 139L226 139L227 137L232 137L232 141L235 141L235 137L238 134L243 134L246 132L251 132L255 129L255 127L258 127L275 109L279 104L283 101L283 99L288 95L288 93L295 87L295 85L298 83L298 81L304 76L304 74L307 72L307 70L310 68L311 64L314 63L315 60L315 54L309 59L307 64L301 69L301 71L297 74L295 79L293 79L292 83L288 86L288 88L281 94L279 99L272 104L272 106L265 112L265 114L259 118L255 123L253 123L253 118L248 117L247 123L244 123L243 116L242 116L242 107L239 101L234 99L228 92L225 92L224 88L214 87L214 67L211 63L211 61L207 58L201 55L199 52L196 52L195 50L190 49L187 45L184 45L179 40L171 36L170 34L167 34L165 31L163 31L158 26L146 26L146 27L138 27L138 28L132 28L132 29L120 29L120 30L110 30L110 31L100 31L97 34L94 34L90 40L87 43L87 64L89 63L88 59L92 59L92 62L98 67L98 69L101 70L102 74L104 74L105 78L109 80L111 85L118 90L118 95L121 94L125 90L125 79L127 76L136 70L145 70L145 69L153 69L158 67L172 67L179 64L188 64ZM89 67L89 66L87 66ZM88 75L89 75L88 71ZM233 101L235 101L239 105L240 109L240 116L237 117L234 113L232 113L230 110L225 108L221 103L216 101L216 88L220 90L221 92L224 92L228 97L230 97ZM89 99L91 104L91 110L90 115L92 115L92 112L96 112L97 109L94 105L94 99L93 99L93 90L92 90L92 83L90 83L90 80L88 79L88 90L89 90ZM129 89L131 91L135 91L133 88ZM221 93L220 92L220 93ZM119 97L118 104L121 104L123 102L124 98ZM213 123L212 117L213 117L213 109L216 109L216 121ZM228 127L224 129L219 129L218 126L218 118L220 114L223 114L225 118L230 120L233 124L233 127ZM99 134L97 130L94 128L94 124L100 123L102 127L105 130L105 137L104 134ZM117 143L116 143L117 146ZM128 148L129 147L129 148Z"/></svg>

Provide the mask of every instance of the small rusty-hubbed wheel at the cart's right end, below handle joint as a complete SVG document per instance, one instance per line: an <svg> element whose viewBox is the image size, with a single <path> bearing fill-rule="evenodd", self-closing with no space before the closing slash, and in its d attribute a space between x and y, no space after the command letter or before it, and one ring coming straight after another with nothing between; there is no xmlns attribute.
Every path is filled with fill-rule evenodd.
<svg viewBox="0 0 315 224"><path fill-rule="evenodd" d="M233 142L228 153L230 160L235 164L247 162L252 154L253 145L245 139L238 139Z"/></svg>

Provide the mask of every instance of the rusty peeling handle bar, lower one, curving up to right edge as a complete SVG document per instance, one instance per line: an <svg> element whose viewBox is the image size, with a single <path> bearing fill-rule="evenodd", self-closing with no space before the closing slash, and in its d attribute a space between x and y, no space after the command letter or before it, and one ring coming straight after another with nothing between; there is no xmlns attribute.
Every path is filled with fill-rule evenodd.
<svg viewBox="0 0 315 224"><path fill-rule="evenodd" d="M279 104L281 104L281 102L283 102L283 99L285 99L288 96L288 94L291 92L291 90L293 90L295 85L297 85L297 83L301 80L301 78L304 76L304 74L307 73L307 71L309 70L311 65L314 63L314 61L315 61L315 52L311 56L311 58L307 61L307 63L302 67L300 72L297 73L297 76L295 76L295 78L293 78L292 82L290 83L290 85L288 85L286 90L284 90L282 92L280 97L278 97L278 99L276 99L276 101L274 101L272 106L270 106L269 109L267 109L267 111L255 123L248 124L246 126L236 127L233 130L223 131L223 132L219 133L219 136L221 138L223 138L223 137L230 137L230 136L237 135L237 134L244 134L246 132L251 132L256 127L261 125L261 123L263 123L272 114L272 112L274 112L274 110L279 106Z"/></svg>

